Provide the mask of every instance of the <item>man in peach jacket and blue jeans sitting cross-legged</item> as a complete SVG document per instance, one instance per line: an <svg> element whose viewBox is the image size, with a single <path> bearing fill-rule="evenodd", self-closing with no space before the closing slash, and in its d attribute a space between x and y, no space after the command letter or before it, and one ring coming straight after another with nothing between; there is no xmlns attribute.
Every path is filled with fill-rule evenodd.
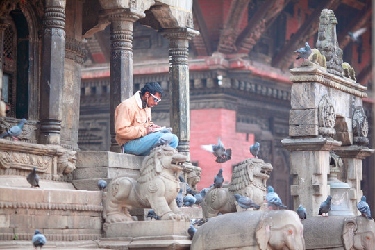
<svg viewBox="0 0 375 250"><path fill-rule="evenodd" d="M159 83L146 83L133 97L122 101L115 111L116 141L123 153L138 156L149 154L153 147L169 144L176 148L178 138L151 122L151 108L158 105L163 95Z"/></svg>

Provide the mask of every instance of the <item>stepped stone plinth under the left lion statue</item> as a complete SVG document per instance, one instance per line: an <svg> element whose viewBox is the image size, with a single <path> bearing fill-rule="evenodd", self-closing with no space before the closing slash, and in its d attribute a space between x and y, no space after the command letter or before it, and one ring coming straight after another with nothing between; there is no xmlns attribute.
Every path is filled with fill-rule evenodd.
<svg viewBox="0 0 375 250"><path fill-rule="evenodd" d="M190 222L118 222L106 228L100 247L110 249L190 249Z"/></svg>

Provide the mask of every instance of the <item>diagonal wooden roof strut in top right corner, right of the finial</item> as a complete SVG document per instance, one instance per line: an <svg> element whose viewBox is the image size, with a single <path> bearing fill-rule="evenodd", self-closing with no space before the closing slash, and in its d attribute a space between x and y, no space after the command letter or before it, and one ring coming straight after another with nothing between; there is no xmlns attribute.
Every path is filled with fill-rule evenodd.
<svg viewBox="0 0 375 250"><path fill-rule="evenodd" d="M356 17L353 18L353 21L345 28L344 32L342 32L339 37L339 45L341 49L344 49L347 47L347 44L350 42L350 36L348 35L348 32L354 32L357 31L360 28L363 28L365 26L365 23L367 20L371 18L372 14L372 7L371 7L371 1L367 1L366 6L361 10Z"/></svg>

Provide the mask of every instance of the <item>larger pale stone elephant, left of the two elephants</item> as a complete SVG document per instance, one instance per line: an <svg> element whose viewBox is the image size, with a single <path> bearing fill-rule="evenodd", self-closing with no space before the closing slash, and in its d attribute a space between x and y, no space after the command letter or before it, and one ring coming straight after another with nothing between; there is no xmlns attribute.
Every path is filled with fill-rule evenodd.
<svg viewBox="0 0 375 250"><path fill-rule="evenodd" d="M190 249L304 250L303 226L291 210L229 213L198 228Z"/></svg>

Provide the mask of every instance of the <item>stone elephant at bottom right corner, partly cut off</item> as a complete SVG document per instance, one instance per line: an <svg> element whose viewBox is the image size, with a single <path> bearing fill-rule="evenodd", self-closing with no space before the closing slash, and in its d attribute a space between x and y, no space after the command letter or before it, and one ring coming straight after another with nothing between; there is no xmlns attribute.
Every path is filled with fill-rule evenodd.
<svg viewBox="0 0 375 250"><path fill-rule="evenodd" d="M311 217L302 224L306 249L375 249L375 222L366 217Z"/></svg>

